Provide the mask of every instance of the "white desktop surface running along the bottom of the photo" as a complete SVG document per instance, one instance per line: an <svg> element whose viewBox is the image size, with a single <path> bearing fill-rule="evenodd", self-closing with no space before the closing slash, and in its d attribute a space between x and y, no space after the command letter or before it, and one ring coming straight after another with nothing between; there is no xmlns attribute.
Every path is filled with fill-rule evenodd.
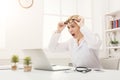
<svg viewBox="0 0 120 80"><path fill-rule="evenodd" d="M0 70L0 80L120 80L120 71L104 70L80 73L74 71Z"/></svg>

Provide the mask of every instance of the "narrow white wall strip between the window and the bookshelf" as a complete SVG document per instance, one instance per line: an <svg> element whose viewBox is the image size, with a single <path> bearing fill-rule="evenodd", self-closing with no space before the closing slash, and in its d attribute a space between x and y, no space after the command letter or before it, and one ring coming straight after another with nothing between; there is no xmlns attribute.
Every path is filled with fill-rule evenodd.
<svg viewBox="0 0 120 80"><path fill-rule="evenodd" d="M92 0L93 31L100 35L102 45L100 57L106 57L104 50L105 13L108 11L108 0Z"/></svg>

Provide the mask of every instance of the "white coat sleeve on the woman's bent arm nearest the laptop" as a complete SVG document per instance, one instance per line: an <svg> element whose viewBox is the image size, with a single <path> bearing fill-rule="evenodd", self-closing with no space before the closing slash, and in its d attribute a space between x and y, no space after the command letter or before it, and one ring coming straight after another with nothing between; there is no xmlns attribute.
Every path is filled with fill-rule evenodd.
<svg viewBox="0 0 120 80"><path fill-rule="evenodd" d="M64 52L68 51L68 41L59 43L59 37L60 33L54 33L51 37L50 43L49 43L49 50L52 52Z"/></svg>

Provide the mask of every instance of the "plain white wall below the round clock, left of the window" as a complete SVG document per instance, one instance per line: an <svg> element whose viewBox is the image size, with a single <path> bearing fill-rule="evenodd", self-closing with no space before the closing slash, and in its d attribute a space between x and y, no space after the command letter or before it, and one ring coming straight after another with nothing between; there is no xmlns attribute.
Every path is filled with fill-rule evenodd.
<svg viewBox="0 0 120 80"><path fill-rule="evenodd" d="M4 0L5 10L1 16L5 18L5 48L28 49L42 47L43 1L35 0L31 8L22 8L18 0ZM2 1L1 1L2 2ZM1 3L0 2L0 3ZM6 8L6 9L5 9Z"/></svg>

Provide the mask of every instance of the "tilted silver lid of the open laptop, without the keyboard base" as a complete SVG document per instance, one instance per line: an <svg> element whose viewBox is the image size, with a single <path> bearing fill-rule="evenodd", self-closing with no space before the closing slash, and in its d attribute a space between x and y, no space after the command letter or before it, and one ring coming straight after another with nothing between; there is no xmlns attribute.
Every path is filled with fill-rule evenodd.
<svg viewBox="0 0 120 80"><path fill-rule="evenodd" d="M32 65L35 69L52 70L43 49L24 49L25 56L30 56L32 59Z"/></svg>

